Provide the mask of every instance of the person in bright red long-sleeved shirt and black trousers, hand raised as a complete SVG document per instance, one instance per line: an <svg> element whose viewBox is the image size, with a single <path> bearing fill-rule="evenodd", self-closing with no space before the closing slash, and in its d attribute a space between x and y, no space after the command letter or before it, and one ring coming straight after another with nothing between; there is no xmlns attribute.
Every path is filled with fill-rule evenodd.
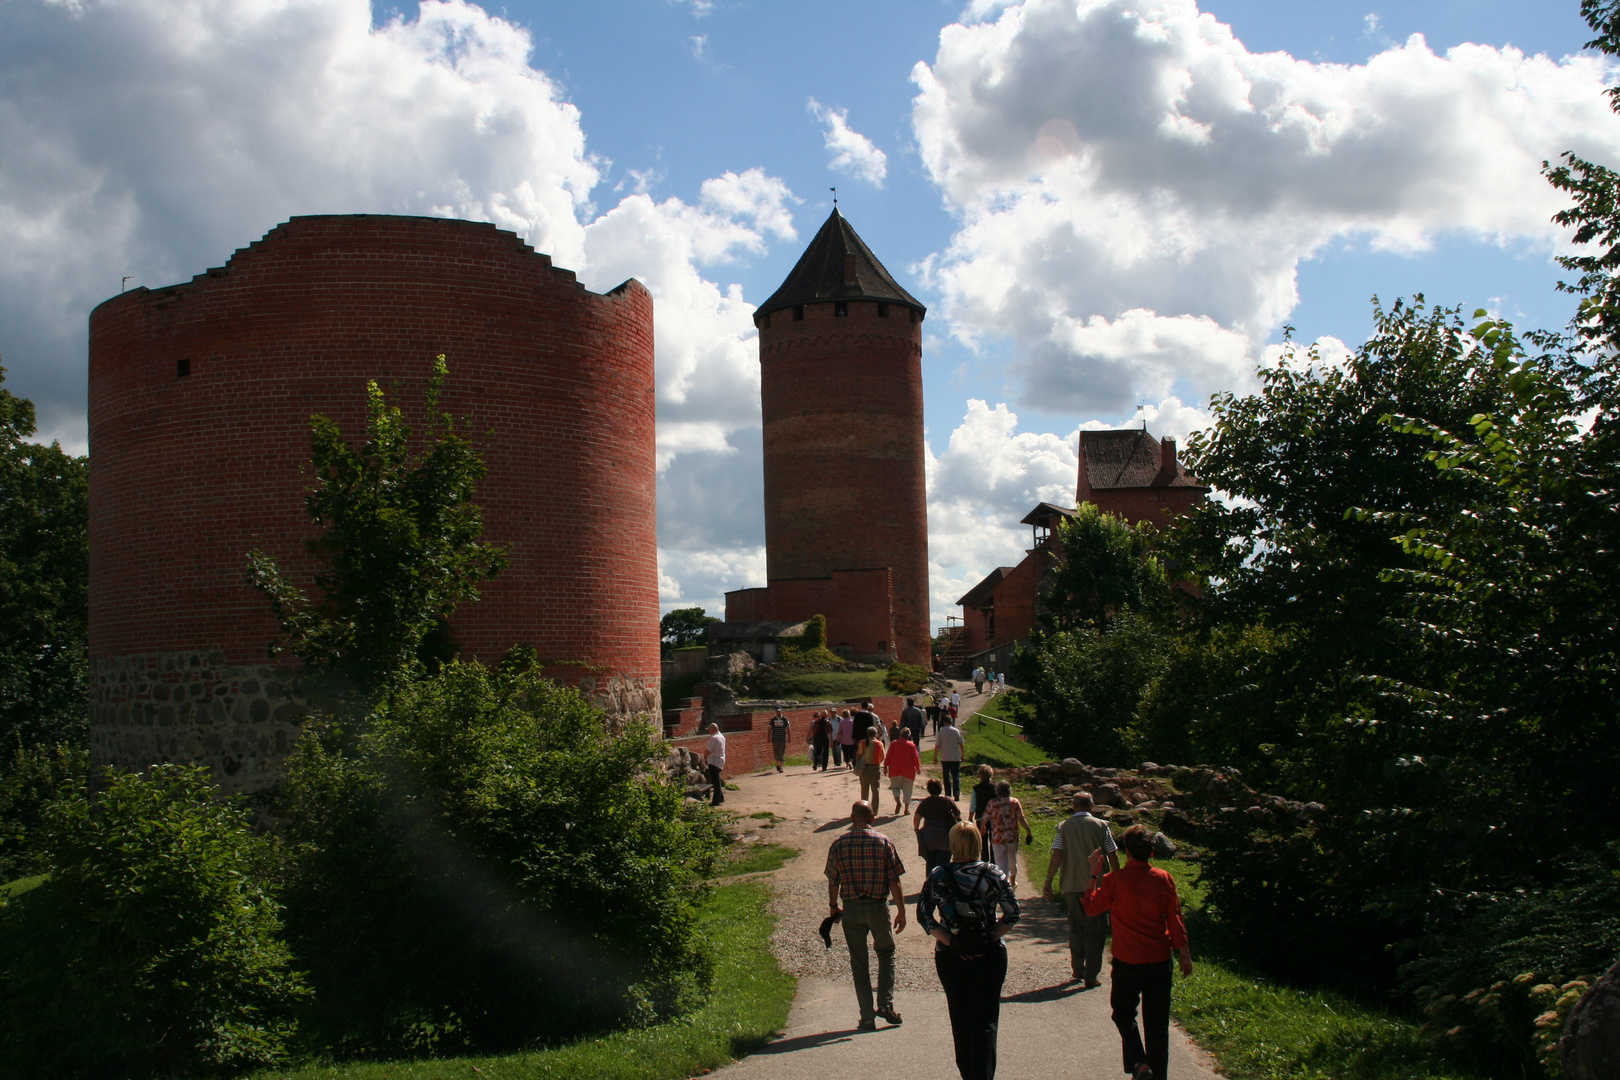
<svg viewBox="0 0 1620 1080"><path fill-rule="evenodd" d="M1187 928L1181 921L1176 882L1150 866L1153 834L1131 826L1121 837L1129 860L1103 876L1102 847L1090 857L1090 887L1081 904L1087 915L1108 912L1113 921L1113 972L1108 1004L1119 1028L1124 1070L1132 1080L1166 1080L1170 1070L1170 957L1192 975ZM1136 1010L1140 1004L1142 1028Z"/></svg>

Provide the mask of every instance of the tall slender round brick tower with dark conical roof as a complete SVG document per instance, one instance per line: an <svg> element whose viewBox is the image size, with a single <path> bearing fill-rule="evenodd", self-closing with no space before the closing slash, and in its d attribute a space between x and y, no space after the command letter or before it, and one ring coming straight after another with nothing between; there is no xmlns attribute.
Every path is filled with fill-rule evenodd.
<svg viewBox="0 0 1620 1080"><path fill-rule="evenodd" d="M831 644L930 665L922 321L833 210L760 304L766 588L727 619L828 619Z"/></svg>

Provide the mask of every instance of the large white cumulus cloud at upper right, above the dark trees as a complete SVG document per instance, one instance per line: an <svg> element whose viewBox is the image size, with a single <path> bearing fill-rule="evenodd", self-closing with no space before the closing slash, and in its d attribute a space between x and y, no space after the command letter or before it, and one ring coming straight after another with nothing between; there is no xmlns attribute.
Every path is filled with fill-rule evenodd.
<svg viewBox="0 0 1620 1080"><path fill-rule="evenodd" d="M1124 415L1251 385L1333 240L1558 241L1539 175L1614 159L1604 63L1421 36L1362 65L1252 53L1194 0L977 3L917 65L957 219L927 261L953 332L1011 340L1019 400Z"/></svg>

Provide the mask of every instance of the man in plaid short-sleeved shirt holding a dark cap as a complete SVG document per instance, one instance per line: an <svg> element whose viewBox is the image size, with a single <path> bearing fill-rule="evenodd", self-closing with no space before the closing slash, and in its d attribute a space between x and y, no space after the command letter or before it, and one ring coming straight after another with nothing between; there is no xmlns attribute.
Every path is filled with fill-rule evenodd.
<svg viewBox="0 0 1620 1080"><path fill-rule="evenodd" d="M894 933L906 929L906 891L901 887L901 855L894 840L872 827L872 806L849 808L849 832L833 840L826 852L826 899L833 915L844 902L844 941L849 944L849 968L855 976L855 1001L860 1004L859 1031L875 1031L876 1017L899 1023L894 1012L894 934L889 933L889 899L894 899ZM867 957L867 934L878 954L878 1007L872 1007L872 970Z"/></svg>

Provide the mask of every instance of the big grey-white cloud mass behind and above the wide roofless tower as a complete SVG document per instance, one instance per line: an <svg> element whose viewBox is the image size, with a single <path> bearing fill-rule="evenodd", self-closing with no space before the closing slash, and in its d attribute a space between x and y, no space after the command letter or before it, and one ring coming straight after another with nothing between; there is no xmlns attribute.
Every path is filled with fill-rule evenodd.
<svg viewBox="0 0 1620 1080"><path fill-rule="evenodd" d="M591 288L648 285L661 589L753 583L753 308L711 267L795 240L795 199L748 168L654 202L643 173L601 212L591 191L609 165L530 53L526 29L465 0L377 26L368 0L0 5L8 389L36 400L42 434L83 450L86 317L122 277L186 280L298 214L489 220Z"/></svg>

